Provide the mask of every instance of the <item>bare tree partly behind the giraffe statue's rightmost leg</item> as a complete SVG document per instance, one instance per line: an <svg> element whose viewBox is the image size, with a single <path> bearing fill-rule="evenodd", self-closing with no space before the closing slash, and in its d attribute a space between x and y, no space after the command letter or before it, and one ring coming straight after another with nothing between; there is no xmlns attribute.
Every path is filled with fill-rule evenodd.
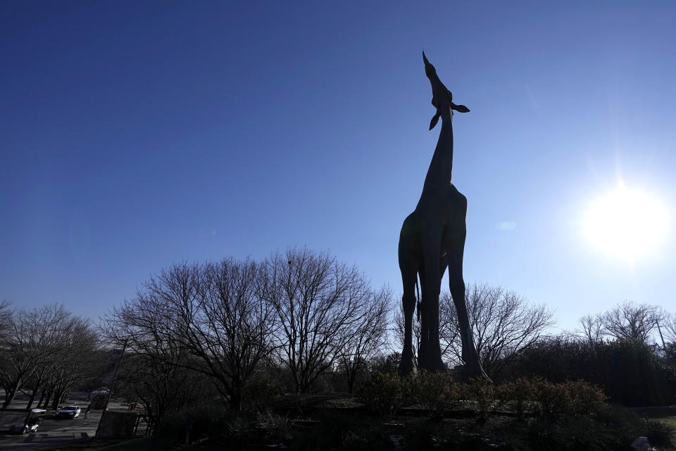
<svg viewBox="0 0 676 451"><path fill-rule="evenodd" d="M544 305L530 305L524 297L503 288L489 285L468 285L466 299L470 324L484 370L498 376L506 364L532 346L544 330L552 326L553 313ZM446 356L462 362L462 342L453 299L444 293L439 300L439 313L446 318L443 337ZM440 328L441 330L441 328Z"/></svg>

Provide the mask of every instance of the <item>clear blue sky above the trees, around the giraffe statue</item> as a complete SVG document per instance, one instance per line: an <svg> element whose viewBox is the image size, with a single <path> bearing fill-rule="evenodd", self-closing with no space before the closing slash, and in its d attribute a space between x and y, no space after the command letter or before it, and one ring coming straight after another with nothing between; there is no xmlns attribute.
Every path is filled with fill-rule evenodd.
<svg viewBox="0 0 676 451"><path fill-rule="evenodd" d="M468 5L0 2L0 299L95 319L173 262L292 245L400 293L439 132L425 49L472 110L465 280L562 328L625 299L675 311L675 4ZM633 264L580 233L618 178L670 212Z"/></svg>

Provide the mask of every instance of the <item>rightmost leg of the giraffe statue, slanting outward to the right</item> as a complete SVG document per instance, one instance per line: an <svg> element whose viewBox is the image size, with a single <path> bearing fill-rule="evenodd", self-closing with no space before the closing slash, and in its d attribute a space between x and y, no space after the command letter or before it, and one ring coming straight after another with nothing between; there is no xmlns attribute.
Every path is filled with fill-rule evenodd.
<svg viewBox="0 0 676 451"><path fill-rule="evenodd" d="M465 252L465 224L460 228L449 227L444 231L444 245L449 261L449 290L458 314L460 336L463 342L462 357L465 364L465 378L491 379L484 372L479 353L474 344L472 325L465 304L465 280L463 279L463 254Z"/></svg>

